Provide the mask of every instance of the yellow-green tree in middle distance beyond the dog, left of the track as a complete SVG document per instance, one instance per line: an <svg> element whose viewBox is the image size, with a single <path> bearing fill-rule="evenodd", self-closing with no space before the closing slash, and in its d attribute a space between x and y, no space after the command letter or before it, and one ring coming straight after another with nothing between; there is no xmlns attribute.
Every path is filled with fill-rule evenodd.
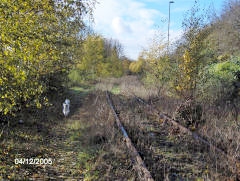
<svg viewBox="0 0 240 181"><path fill-rule="evenodd" d="M74 84L123 74L122 47L118 41L92 34L87 36L81 49L82 56L69 74Z"/></svg>

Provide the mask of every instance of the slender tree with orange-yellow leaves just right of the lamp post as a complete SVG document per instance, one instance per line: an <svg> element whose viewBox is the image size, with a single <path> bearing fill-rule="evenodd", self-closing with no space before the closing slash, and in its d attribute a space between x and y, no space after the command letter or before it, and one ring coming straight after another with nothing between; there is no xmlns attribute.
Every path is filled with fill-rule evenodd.
<svg viewBox="0 0 240 181"><path fill-rule="evenodd" d="M197 2L189 12L183 21L184 41L181 47L183 56L178 61L178 76L175 83L176 90L184 96L195 95L199 73L211 56L206 41L211 29L206 25L206 17L200 13Z"/></svg>

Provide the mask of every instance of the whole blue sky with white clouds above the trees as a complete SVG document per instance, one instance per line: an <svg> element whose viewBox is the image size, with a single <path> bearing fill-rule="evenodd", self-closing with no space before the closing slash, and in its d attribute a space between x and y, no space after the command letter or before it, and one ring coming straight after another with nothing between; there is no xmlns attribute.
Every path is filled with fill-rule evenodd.
<svg viewBox="0 0 240 181"><path fill-rule="evenodd" d="M217 15L225 2L198 0L201 9L211 7ZM181 37L184 15L193 5L194 0L174 0L170 4L170 41ZM167 37L168 13L168 0L98 0L92 28L105 38L118 40L124 48L124 54L137 60L156 32Z"/></svg>

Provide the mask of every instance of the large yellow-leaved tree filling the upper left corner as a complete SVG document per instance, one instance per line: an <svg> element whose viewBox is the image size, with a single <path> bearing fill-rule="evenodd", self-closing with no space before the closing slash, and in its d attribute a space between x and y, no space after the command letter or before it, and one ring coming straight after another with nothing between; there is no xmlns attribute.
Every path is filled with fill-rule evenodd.
<svg viewBox="0 0 240 181"><path fill-rule="evenodd" d="M0 2L0 114L47 101L53 78L74 62L90 11L81 1Z"/></svg>

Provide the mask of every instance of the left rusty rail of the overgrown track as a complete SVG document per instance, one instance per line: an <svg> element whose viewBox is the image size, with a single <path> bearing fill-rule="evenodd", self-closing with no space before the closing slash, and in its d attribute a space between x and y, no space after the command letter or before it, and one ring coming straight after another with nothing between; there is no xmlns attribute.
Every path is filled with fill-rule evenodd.
<svg viewBox="0 0 240 181"><path fill-rule="evenodd" d="M139 153L137 152L136 148L133 146L131 139L129 138L126 130L124 129L123 125L120 122L120 119L116 113L116 110L114 108L113 102L109 96L108 91L106 91L106 97L107 97L107 101L109 103L109 106L111 107L111 110L114 114L117 126L119 127L119 129L122 131L123 133L123 137L126 141L126 145L127 148L129 149L132 158L134 159L134 168L136 169L136 171L138 172L139 175L139 179L143 180L143 181L154 181L151 173L148 171L148 169L146 168L141 156L139 155Z"/></svg>

